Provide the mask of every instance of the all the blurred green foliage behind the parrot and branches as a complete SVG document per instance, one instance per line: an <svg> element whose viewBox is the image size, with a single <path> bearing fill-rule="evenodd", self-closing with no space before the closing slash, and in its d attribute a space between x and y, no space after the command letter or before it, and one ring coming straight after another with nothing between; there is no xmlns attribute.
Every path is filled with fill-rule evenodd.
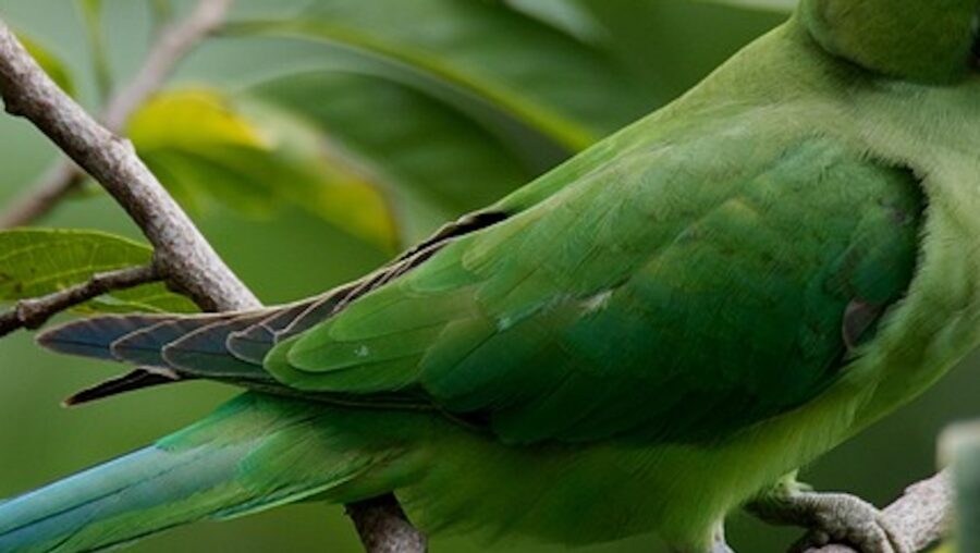
<svg viewBox="0 0 980 553"><path fill-rule="evenodd" d="M240 0L229 29L185 60L168 89L134 115L128 134L231 267L266 303L285 302L363 274L446 219L499 198L683 94L783 21L789 4ZM72 83L97 111L107 81L125 82L155 29L186 13L189 2L69 5L7 0L0 16L32 37L32 51L52 76ZM0 118L0 137L3 206L57 152L23 121ZM98 192L73 196L42 224L139 238ZM130 242L113 243L113 267L148 255ZM108 267L79 269L78 259L64 255L35 265L45 274L74 266L75 280ZM9 272L11 259L0 262ZM133 298L113 305L124 300ZM118 370L42 352L27 333L0 341L0 420L8 421L0 426L0 497L143 445L235 393L200 382L75 410L58 407L62 396ZM972 414L970 391L978 383L976 371L957 371L805 477L819 488L887 501L932 471L938 429ZM743 553L782 551L796 533L745 516L730 527ZM465 537L433 543L434 551L487 548ZM584 551L656 548L656 540L641 537ZM132 551L324 549L359 545L339 507L307 504L182 528ZM520 541L491 549L562 551Z"/></svg>

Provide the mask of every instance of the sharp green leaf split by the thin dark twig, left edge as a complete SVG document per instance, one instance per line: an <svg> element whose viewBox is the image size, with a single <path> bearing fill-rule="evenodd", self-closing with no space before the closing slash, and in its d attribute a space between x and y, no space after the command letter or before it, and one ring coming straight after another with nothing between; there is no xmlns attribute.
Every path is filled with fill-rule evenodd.
<svg viewBox="0 0 980 553"><path fill-rule="evenodd" d="M96 231L14 229L0 231L0 300L52 294L94 274L150 262L143 244ZM77 306L79 312L181 311L196 308L162 283L113 291Z"/></svg>

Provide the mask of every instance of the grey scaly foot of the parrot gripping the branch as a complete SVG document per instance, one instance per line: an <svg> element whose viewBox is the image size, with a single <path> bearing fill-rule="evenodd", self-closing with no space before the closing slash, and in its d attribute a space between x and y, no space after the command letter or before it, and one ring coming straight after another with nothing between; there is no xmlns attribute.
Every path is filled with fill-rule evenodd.
<svg viewBox="0 0 980 553"><path fill-rule="evenodd" d="M903 533L874 505L846 493L818 493L792 478L746 508L771 524L808 528L794 551L846 543L861 553L915 553Z"/></svg>

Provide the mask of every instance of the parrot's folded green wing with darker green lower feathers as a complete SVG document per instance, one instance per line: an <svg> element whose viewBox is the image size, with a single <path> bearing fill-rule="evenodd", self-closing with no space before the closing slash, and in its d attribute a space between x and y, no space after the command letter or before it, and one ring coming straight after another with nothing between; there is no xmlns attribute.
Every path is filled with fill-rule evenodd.
<svg viewBox="0 0 980 553"><path fill-rule="evenodd" d="M266 368L306 393L421 397L507 441L711 439L813 398L859 355L912 278L923 201L909 171L830 139L635 150Z"/></svg>

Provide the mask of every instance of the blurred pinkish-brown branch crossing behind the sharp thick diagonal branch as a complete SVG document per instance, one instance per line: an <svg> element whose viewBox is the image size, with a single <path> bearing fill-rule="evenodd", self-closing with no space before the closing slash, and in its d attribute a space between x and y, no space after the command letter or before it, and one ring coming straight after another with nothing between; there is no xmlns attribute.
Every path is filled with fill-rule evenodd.
<svg viewBox="0 0 980 553"><path fill-rule="evenodd" d="M177 63L201 40L220 28L234 0L200 0L184 20L163 28L150 48L146 63L133 81L115 94L106 108L102 122L119 133L133 112L159 90ZM0 216L0 229L21 226L45 216L83 181L83 173L71 160L60 160L38 183L14 200Z"/></svg>

